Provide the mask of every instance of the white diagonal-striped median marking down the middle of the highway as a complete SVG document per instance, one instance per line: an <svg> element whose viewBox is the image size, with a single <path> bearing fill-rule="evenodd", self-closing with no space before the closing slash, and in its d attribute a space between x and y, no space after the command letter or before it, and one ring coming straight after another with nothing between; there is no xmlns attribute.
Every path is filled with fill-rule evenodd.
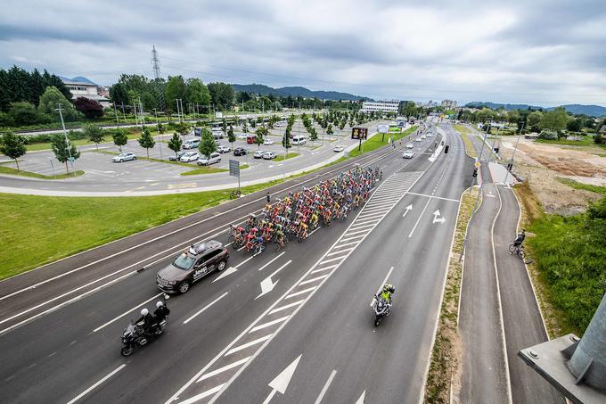
<svg viewBox="0 0 606 404"><path fill-rule="evenodd" d="M376 188L339 240L323 254L298 283L274 302L240 334L225 351L204 367L170 402L213 402L220 394L217 386L229 385L250 360L271 341L300 307L348 259L374 227L392 210L422 176L422 171L397 172ZM344 248L347 247L347 248ZM263 342L263 343L261 343Z"/></svg>

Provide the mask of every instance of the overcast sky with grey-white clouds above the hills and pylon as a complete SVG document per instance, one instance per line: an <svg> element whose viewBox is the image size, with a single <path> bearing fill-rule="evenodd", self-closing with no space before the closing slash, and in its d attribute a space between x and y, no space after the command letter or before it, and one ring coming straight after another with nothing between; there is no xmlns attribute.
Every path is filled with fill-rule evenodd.
<svg viewBox="0 0 606 404"><path fill-rule="evenodd" d="M597 1L4 0L0 67L111 85L163 77L375 99L606 105Z"/></svg>

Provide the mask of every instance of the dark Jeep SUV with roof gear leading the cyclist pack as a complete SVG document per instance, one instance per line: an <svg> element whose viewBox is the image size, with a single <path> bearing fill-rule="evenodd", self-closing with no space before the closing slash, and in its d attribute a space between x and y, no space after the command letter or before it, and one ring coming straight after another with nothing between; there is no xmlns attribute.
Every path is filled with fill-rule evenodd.
<svg viewBox="0 0 606 404"><path fill-rule="evenodd" d="M190 286L227 266L229 251L215 240L192 244L156 275L156 285L166 293L186 293Z"/></svg>

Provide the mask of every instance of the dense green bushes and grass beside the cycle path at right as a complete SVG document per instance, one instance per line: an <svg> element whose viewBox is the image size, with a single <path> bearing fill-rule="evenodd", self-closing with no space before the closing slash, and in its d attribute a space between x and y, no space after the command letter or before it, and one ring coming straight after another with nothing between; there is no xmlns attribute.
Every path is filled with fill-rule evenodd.
<svg viewBox="0 0 606 404"><path fill-rule="evenodd" d="M603 186L564 184L606 194ZM562 217L545 214L528 186L515 188L532 234L527 247L536 268L539 299L547 301L552 317L545 318L547 326L552 334L582 335L602 300L606 280L606 198L590 205L586 213Z"/></svg>

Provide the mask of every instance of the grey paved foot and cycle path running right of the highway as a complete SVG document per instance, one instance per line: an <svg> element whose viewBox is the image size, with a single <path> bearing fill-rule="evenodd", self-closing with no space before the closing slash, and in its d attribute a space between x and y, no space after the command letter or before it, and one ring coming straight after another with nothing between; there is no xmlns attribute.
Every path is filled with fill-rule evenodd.
<svg viewBox="0 0 606 404"><path fill-rule="evenodd" d="M479 151L481 139L471 136ZM482 203L471 219L463 268L459 329L463 364L455 402L563 403L563 397L517 358L548 337L524 262L508 247L520 207L512 189L494 184L484 147Z"/></svg>

